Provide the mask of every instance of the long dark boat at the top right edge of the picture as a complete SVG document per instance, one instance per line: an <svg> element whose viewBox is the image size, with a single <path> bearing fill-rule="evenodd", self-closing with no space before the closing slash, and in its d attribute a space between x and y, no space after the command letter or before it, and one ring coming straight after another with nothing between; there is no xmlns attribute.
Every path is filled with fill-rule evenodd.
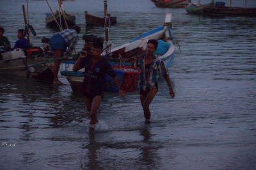
<svg viewBox="0 0 256 170"><path fill-rule="evenodd" d="M245 8L241 7L231 7L231 0L230 6L225 6L224 2L216 2L215 6L205 7L204 14L205 15L243 15L243 16L255 16L256 15L256 8ZM246 1L245 1L246 2Z"/></svg>

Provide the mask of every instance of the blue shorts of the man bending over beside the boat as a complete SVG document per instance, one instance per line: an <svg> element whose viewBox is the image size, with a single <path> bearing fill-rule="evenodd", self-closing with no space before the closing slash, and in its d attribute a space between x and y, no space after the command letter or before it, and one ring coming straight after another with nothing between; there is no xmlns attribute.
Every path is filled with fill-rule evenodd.
<svg viewBox="0 0 256 170"><path fill-rule="evenodd" d="M66 44L64 38L59 34L53 35L51 37L50 47L53 51L61 50L61 51L65 52L67 50L67 44Z"/></svg>

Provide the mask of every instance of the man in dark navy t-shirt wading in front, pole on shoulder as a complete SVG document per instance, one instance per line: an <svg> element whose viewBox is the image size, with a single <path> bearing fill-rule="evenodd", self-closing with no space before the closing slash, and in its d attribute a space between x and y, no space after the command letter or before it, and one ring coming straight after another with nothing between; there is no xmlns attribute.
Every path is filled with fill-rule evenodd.
<svg viewBox="0 0 256 170"><path fill-rule="evenodd" d="M108 73L113 78L116 86L118 87L118 93L121 97L124 97L125 93L121 88L120 81L113 71L108 61L100 56L102 53L102 42L94 42L92 47L92 55L81 54L73 67L73 72L77 72L81 68L84 68L84 82L83 82L83 95L86 102L86 107L90 113L90 130L93 132L97 120L97 110L100 102L103 98L103 89L105 82L105 74Z"/></svg>

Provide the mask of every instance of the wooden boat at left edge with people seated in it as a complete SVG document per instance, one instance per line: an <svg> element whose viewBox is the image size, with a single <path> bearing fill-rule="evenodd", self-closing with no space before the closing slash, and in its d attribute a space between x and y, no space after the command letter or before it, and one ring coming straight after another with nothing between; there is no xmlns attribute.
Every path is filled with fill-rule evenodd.
<svg viewBox="0 0 256 170"><path fill-rule="evenodd" d="M33 54L34 53L34 54ZM32 77L41 81L52 82L52 63L39 64L52 59L50 56L43 56L42 50L32 49L29 52L23 52L21 49L15 49L13 52L4 52L0 54L0 75Z"/></svg>

